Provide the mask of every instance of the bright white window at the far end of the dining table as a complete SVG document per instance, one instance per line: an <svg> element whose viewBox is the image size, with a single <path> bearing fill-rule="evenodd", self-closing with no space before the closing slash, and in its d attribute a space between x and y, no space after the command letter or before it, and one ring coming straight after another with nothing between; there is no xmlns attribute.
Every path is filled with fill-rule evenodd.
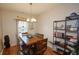
<svg viewBox="0 0 79 59"><path fill-rule="evenodd" d="M18 21L18 34L28 32L28 23L26 21Z"/></svg>

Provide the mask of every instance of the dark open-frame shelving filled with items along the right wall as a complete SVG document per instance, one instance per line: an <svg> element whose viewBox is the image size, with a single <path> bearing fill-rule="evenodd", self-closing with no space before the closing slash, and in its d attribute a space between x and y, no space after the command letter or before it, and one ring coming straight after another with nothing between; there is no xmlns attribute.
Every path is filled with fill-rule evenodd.
<svg viewBox="0 0 79 59"><path fill-rule="evenodd" d="M79 15L72 13L65 20L53 22L53 42L60 54L79 54Z"/></svg>

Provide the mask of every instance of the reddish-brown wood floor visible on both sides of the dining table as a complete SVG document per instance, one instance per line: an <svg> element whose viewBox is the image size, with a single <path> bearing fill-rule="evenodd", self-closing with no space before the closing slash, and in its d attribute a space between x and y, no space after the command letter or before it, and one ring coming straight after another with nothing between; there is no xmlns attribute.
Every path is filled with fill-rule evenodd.
<svg viewBox="0 0 79 59"><path fill-rule="evenodd" d="M3 55L17 55L17 46L13 46L10 48L5 48L3 50ZM52 48L47 47L47 50L44 52L44 55L58 55L56 52L52 50Z"/></svg>

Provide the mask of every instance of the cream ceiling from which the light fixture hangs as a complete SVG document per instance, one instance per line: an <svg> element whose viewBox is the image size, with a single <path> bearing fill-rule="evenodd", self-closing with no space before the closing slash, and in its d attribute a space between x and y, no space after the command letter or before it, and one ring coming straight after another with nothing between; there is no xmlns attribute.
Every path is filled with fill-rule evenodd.
<svg viewBox="0 0 79 59"><path fill-rule="evenodd" d="M32 4L32 14L39 15L43 12L50 10L51 8L57 6L58 4L53 3L33 3ZM18 12L23 12L30 14L31 8L29 3L0 3L0 8L5 10L13 10Z"/></svg>

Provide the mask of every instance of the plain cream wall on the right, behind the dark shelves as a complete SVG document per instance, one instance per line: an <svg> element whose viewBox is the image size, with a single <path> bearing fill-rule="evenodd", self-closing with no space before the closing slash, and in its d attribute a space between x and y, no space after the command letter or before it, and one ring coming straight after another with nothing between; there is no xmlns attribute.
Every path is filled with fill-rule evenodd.
<svg viewBox="0 0 79 59"><path fill-rule="evenodd" d="M79 14L79 4L60 4L38 16L37 32L43 33L49 41L53 41L53 21L65 20L72 12Z"/></svg>

